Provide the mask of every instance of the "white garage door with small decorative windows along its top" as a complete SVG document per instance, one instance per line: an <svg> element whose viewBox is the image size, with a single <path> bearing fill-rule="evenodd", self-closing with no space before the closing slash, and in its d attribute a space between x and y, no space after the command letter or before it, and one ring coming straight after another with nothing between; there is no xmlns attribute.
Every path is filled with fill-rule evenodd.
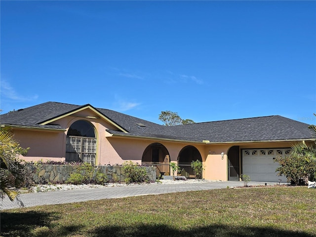
<svg viewBox="0 0 316 237"><path fill-rule="evenodd" d="M250 176L251 181L287 182L286 177L277 176L275 162L277 156L285 156L290 149L249 149L242 150L242 174Z"/></svg>

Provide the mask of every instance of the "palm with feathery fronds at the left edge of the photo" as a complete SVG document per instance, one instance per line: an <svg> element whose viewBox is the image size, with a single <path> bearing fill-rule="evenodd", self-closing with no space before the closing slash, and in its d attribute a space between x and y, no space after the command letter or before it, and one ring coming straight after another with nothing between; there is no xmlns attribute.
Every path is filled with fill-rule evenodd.
<svg viewBox="0 0 316 237"><path fill-rule="evenodd" d="M25 181L25 165L19 159L19 155L26 155L28 149L23 149L14 140L13 134L0 129L0 198L8 196L23 206L18 198L18 188Z"/></svg>

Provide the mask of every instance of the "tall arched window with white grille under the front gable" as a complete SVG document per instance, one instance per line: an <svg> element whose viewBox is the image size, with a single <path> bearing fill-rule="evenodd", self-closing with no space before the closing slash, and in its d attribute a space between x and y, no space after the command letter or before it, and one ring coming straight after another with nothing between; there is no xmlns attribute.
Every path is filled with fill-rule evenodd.
<svg viewBox="0 0 316 237"><path fill-rule="evenodd" d="M95 165L97 139L92 124L85 120L74 122L66 137L66 162Z"/></svg>

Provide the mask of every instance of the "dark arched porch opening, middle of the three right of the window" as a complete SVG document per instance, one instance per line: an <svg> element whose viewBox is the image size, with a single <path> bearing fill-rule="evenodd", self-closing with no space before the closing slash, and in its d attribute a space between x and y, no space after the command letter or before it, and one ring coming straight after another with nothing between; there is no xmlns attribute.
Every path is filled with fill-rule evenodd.
<svg viewBox="0 0 316 237"><path fill-rule="evenodd" d="M181 168L181 175L186 178L195 178L195 174L191 167L191 162L199 160L202 162L202 157L197 148L194 146L186 146L179 153L178 165Z"/></svg>

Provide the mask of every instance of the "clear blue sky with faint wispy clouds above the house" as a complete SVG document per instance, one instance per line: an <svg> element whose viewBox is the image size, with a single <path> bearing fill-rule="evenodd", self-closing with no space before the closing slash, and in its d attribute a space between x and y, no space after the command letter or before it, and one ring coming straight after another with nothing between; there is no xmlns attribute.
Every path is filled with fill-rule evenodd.
<svg viewBox="0 0 316 237"><path fill-rule="evenodd" d="M0 1L2 114L47 101L162 124L316 124L316 1Z"/></svg>

